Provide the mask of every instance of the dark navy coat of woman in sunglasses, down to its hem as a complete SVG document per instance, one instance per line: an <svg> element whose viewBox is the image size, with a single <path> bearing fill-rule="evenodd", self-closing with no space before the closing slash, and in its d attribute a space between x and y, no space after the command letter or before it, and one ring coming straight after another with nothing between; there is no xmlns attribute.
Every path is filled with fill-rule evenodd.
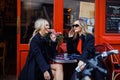
<svg viewBox="0 0 120 80"><path fill-rule="evenodd" d="M81 36L77 36L76 39L73 40L73 38L68 38L67 39L67 50L68 53L72 54L72 53L77 53L79 54L79 52L77 51L77 44L79 39L82 39L82 55L80 57L80 60L86 62L87 60L93 58L94 56L96 56L95 54L95 39L94 36L92 34L87 34L86 36L81 35ZM100 61L98 63L98 66L100 67L104 67L104 64L102 61ZM76 80L74 78L76 78L76 74L79 75L77 72L73 73L72 80ZM83 75L85 76L85 75ZM99 70L93 70L92 71L92 77L94 78L94 80L104 80L104 74L102 74Z"/></svg>

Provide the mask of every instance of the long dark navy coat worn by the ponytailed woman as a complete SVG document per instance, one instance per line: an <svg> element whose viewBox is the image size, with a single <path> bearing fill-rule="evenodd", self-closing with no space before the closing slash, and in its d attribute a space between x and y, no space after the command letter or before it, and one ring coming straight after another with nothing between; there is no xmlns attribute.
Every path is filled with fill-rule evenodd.
<svg viewBox="0 0 120 80"><path fill-rule="evenodd" d="M46 70L52 77L49 62L50 56L56 53L56 45L56 42L49 41L37 33L31 40L29 54L19 80L44 80L43 73Z"/></svg>

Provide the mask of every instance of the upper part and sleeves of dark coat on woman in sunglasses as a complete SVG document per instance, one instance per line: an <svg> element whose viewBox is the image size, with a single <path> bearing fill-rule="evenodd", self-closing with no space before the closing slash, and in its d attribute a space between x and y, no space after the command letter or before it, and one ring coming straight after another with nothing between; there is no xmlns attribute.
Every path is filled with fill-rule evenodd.
<svg viewBox="0 0 120 80"><path fill-rule="evenodd" d="M67 51L69 54L76 53L79 54L77 51L77 45L79 39L82 39L82 55L81 59L83 61L92 58L95 55L95 46L94 46L94 36L92 34L84 35L77 35L76 39L67 38Z"/></svg>

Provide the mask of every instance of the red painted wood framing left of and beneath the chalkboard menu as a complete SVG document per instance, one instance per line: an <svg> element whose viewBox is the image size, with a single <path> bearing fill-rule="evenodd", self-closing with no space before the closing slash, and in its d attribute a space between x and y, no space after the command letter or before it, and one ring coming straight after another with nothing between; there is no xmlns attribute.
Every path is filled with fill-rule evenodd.
<svg viewBox="0 0 120 80"><path fill-rule="evenodd" d="M120 49L120 34L105 33L106 0L95 0L95 5L95 43L108 42L113 47Z"/></svg>

